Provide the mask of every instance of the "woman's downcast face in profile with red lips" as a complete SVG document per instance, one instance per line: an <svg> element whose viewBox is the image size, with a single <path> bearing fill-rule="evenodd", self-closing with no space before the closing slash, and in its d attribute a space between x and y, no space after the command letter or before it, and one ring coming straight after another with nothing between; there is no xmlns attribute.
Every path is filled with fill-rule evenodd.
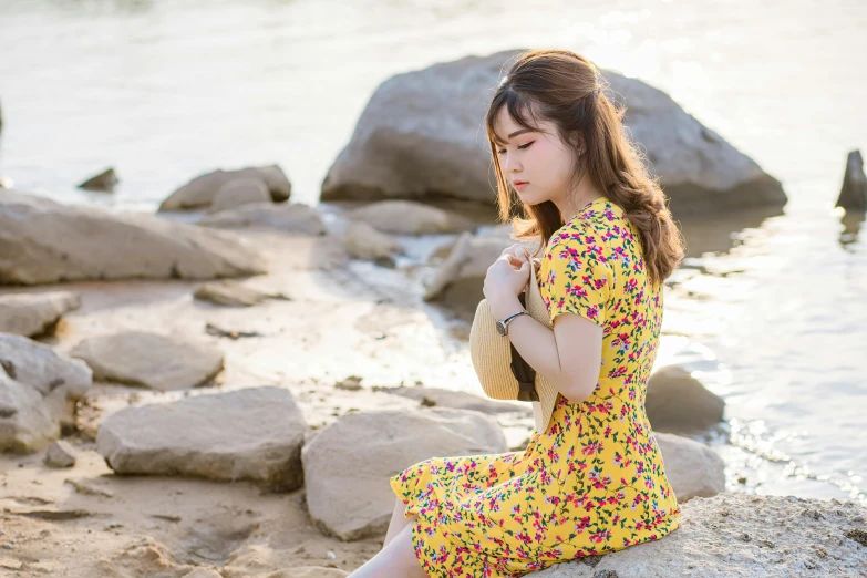
<svg viewBox="0 0 867 578"><path fill-rule="evenodd" d="M506 143L496 144L503 176L525 205L546 200L564 207L571 188L575 154L548 121L539 121L534 131L522 127L506 106L497 113L496 132ZM533 124L533 122L530 122Z"/></svg>

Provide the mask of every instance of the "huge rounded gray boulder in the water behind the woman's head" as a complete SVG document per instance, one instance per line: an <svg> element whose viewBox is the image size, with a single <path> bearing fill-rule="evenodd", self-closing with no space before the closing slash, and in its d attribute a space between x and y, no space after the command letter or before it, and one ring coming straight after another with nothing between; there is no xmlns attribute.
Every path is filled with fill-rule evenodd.
<svg viewBox="0 0 867 578"><path fill-rule="evenodd" d="M383 82L329 169L321 199L436 195L493 204L484 118L493 90L517 53L467 56ZM625 97L626 125L647 151L675 215L785 204L780 182L667 94L636 79L601 73Z"/></svg>

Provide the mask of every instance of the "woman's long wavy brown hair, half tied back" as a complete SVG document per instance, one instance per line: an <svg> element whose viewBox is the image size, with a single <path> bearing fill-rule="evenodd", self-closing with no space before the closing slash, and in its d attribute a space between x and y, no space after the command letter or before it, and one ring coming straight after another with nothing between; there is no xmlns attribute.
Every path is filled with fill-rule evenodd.
<svg viewBox="0 0 867 578"><path fill-rule="evenodd" d="M522 127L537 130L538 118L557 126L560 140L575 153L572 178L589 177L598 190L623 209L640 234L651 282L661 283L683 259L682 237L662 189L623 131L626 109L616 106L606 96L599 81L590 61L567 50L534 50L517 58L497 87L485 118L497 177L499 217L508 221L517 200L524 216L512 219L516 238L540 238L539 251L564 226L553 202L522 204L503 175L497 142L504 138L496 134L494 123L506 106L509 116ZM581 142L584 152L579 163Z"/></svg>

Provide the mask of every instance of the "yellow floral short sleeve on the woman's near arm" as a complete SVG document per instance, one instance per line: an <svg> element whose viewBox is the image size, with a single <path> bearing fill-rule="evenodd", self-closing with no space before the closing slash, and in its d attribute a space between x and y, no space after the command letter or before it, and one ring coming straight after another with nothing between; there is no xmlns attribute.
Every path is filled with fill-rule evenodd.
<svg viewBox="0 0 867 578"><path fill-rule="evenodd" d="M605 326L613 272L597 235L580 230L555 234L545 251L539 291L551 323L576 313Z"/></svg>

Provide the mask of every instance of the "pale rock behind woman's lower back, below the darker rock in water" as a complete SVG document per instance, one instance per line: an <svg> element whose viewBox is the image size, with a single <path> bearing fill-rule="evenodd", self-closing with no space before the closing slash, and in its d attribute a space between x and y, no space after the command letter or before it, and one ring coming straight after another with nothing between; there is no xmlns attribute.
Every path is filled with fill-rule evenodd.
<svg viewBox="0 0 867 578"><path fill-rule="evenodd" d="M674 434L654 432L679 504L725 492L725 463L709 446Z"/></svg>

